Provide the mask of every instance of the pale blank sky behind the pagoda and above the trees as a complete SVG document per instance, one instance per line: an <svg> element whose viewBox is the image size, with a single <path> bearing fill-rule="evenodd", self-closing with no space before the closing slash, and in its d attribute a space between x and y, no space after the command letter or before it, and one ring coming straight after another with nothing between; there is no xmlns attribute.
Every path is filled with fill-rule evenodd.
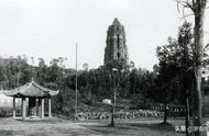
<svg viewBox="0 0 209 136"><path fill-rule="evenodd" d="M206 12L205 43L209 43L209 11ZM108 26L118 18L124 25L129 60L152 70L156 47L177 37L184 22L174 0L0 0L0 55L29 58L66 57L78 69L103 64ZM187 18L193 21L194 16ZM29 60L30 61L30 60Z"/></svg>

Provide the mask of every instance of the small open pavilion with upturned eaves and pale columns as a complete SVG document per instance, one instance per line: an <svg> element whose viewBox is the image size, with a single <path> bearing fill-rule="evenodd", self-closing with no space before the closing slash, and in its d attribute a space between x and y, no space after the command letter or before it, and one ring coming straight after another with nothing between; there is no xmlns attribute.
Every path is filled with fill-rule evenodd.
<svg viewBox="0 0 209 136"><path fill-rule="evenodd" d="M48 117L51 117L51 98L57 95L59 91L46 89L34 82L32 79L31 82L28 82L24 86L18 87L13 90L3 90L3 92L8 97L13 97L13 118L16 117L15 99L22 99L21 111L22 118L24 120L28 116L40 116L41 118L44 118L45 99L48 99ZM26 99L29 99L28 113Z"/></svg>

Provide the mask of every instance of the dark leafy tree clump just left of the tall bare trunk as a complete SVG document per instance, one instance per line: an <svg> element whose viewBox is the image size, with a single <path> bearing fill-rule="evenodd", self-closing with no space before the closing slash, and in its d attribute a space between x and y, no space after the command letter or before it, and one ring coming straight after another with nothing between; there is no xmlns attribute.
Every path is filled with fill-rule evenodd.
<svg viewBox="0 0 209 136"><path fill-rule="evenodd" d="M188 99L194 82L194 44L191 24L185 22L178 30L177 39L168 37L168 45L157 47L158 75L157 100L166 105L170 102L185 104L189 111ZM189 113L187 113L188 115Z"/></svg>

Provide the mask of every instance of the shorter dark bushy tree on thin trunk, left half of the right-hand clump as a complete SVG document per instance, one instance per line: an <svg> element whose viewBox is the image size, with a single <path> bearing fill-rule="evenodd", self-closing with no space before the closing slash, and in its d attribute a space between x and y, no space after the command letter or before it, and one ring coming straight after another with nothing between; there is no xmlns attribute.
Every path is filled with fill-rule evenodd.
<svg viewBox="0 0 209 136"><path fill-rule="evenodd" d="M167 104L175 100L178 89L176 79L176 71L178 69L177 46L177 41L168 37L168 45L160 46L156 50L160 63L158 68L156 68L158 71L155 100L164 103L164 123L167 121Z"/></svg>

